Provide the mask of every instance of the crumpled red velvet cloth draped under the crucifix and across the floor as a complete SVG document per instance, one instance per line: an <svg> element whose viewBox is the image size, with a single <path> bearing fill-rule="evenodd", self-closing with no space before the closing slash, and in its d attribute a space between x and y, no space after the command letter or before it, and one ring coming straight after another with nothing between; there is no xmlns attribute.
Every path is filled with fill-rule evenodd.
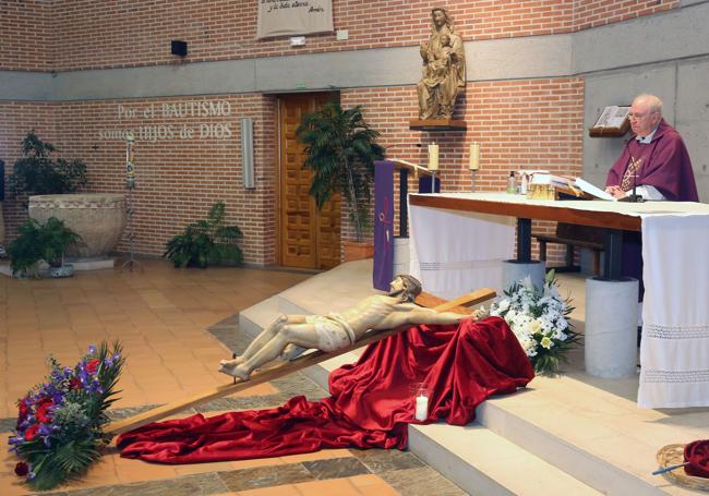
<svg viewBox="0 0 709 496"><path fill-rule="evenodd" d="M209 419L155 422L118 438L121 456L159 463L280 457L321 448L407 446L413 419L410 387L430 389L429 418L464 425L491 395L513 392L533 368L498 317L458 326L414 326L372 343L353 365L331 374L331 398L299 396L280 408Z"/></svg>

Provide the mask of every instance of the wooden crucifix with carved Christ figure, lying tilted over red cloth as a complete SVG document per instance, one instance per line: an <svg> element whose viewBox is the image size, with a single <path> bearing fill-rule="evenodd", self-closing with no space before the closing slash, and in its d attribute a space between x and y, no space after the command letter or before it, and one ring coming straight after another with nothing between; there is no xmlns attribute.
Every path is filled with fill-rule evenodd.
<svg viewBox="0 0 709 496"><path fill-rule="evenodd" d="M402 290L396 289L399 287L401 287ZM410 288L410 289L407 290L406 288ZM266 366L260 368L259 371L253 372L255 367L260 366L260 364L265 364L267 362L267 360L264 360L263 356L269 356L271 354L273 354L273 358L275 359L284 351L286 352L287 355L296 354L295 352L301 351L300 349L295 350L293 347L289 348L289 344L291 342L288 341L288 339L279 338L279 340L274 343L274 344L278 343L278 346L274 346L273 348L269 348L268 354L264 352L263 355L259 356L259 352L261 351L261 349L262 348L265 349L264 344L267 344L274 338L272 336L271 339L266 339L266 337L269 336L269 334L266 332L269 332L269 329L272 329L272 327L276 329L280 329L280 327L284 327L283 324L286 324L288 322L287 319L286 320L278 319L275 323L276 325L269 326L264 332L260 335L260 337L257 337L253 341L253 343L247 349L247 352L244 352L244 354L241 356L241 360L235 359L235 361L221 362L220 370L225 373L228 373L229 375L235 376L233 384L220 385L215 388L184 398L182 400L173 401L171 403L157 407L146 412L139 413L134 416L123 419L123 420L117 420L106 425L106 427L104 427L104 433L108 435L122 434L132 431L134 428L141 427L143 425L149 424L151 422L155 422L165 419L167 416L170 416L175 413L184 411L191 407L194 407L195 404L205 403L207 401L217 398L223 398L225 396L239 392L241 390L248 389L259 384L267 383L269 380L284 377L288 374L292 374L293 372L300 371L311 365L315 365L320 362L324 362L326 360L347 353L357 348L365 347L368 344L371 344L372 342L376 342L378 340L387 338L388 336L402 332L406 329L410 328L411 324L456 323L460 318L470 316L470 311L464 309L462 305L476 305L478 303L482 303L495 297L494 290L489 288L482 288L471 293L459 297L455 300L446 302L445 300L436 298L432 294L428 294L428 293L419 294L421 292L421 283L414 278L411 278L409 276L399 276L395 278L393 282L392 292L397 294L393 294L393 295L382 294L382 295L369 297L364 299L362 302L360 302L358 305L356 305L353 309L340 313L340 315L343 316L341 318L346 323L349 323L348 325L352 328L351 330L354 334L354 338L356 338L353 342L345 343L344 348L339 348L332 352L326 352L326 351L317 350L320 342L315 342L314 346L311 346L311 343L314 342L312 340L308 342L305 342L304 340L302 341L299 340L298 342L293 340L292 341L293 346L300 343L301 347L315 348L316 350L307 353L302 356L298 356L293 360L286 361L285 363L278 363L277 365ZM413 303L413 299L416 299L416 303ZM364 304L365 302L370 302L370 303L365 305ZM350 318L357 317L359 315L357 309L360 307L364 315L369 315L369 313L371 312L372 315L377 315L378 317L372 317L372 315L369 315L368 317L362 316L361 317L362 320L357 320L352 324ZM455 311L456 313L447 312L452 310ZM351 316L349 314L350 312L352 312ZM436 320L438 316L442 316L442 320ZM304 322L307 320L308 317L303 316L302 318ZM314 316L314 318L317 319L323 317ZM280 326L277 325L279 320L283 320ZM337 322L337 320L333 320L333 322ZM374 325L371 325L369 328L366 326L362 327L363 322L372 322L374 323ZM354 330L356 328L357 330ZM308 329L311 328L308 327ZM375 332L366 332L370 329L375 330ZM386 330L380 330L380 329L386 329ZM322 331L322 327L321 327L321 331ZM348 332L347 330L344 331ZM311 335L310 335L311 339L313 339L313 332L315 336L314 339L317 339L316 338L317 330L315 329L314 325L313 328L311 329ZM349 334L347 334L347 336L349 339ZM260 340L261 337L263 337L262 340ZM285 341L285 344L283 344L281 341ZM251 350L250 355L248 355L249 350ZM292 358L292 356L284 356L284 358ZM254 359L254 360L247 365L247 362L250 359ZM259 364L256 360L259 360ZM233 373L235 368L239 367L240 365L244 365L242 370L249 372L249 374L247 375L248 377L247 380L242 379L241 377L237 377L238 374Z"/></svg>

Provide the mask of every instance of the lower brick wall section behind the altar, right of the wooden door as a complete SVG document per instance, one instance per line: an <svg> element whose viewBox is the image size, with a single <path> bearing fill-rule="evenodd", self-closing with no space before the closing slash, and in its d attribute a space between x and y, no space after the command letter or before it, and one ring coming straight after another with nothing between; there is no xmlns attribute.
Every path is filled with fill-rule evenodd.
<svg viewBox="0 0 709 496"><path fill-rule="evenodd" d="M366 121L382 133L381 144L387 148L388 158L425 166L426 145L438 143L443 191L470 191L468 160L473 142L481 144L477 191L503 191L510 170L542 168L565 176L581 174L580 78L468 83L454 116L468 123L465 133L409 130L409 120L418 113L416 89L410 86L346 90L341 93L341 102L345 107L364 106ZM413 187L411 183L410 189ZM395 219L395 226L397 222ZM554 226L534 222L534 230L551 232ZM346 218L343 238L353 239ZM556 259L561 247L553 246L550 253Z"/></svg>

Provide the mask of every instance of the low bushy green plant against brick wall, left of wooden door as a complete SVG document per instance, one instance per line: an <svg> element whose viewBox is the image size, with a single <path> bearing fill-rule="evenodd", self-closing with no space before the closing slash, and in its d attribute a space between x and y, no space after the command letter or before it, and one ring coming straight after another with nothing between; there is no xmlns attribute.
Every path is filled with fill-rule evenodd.
<svg viewBox="0 0 709 496"><path fill-rule="evenodd" d="M225 226L225 208L224 202L214 204L206 220L190 223L181 234L167 242L163 256L176 267L240 264L243 253L236 241L241 238L241 230L237 226Z"/></svg>

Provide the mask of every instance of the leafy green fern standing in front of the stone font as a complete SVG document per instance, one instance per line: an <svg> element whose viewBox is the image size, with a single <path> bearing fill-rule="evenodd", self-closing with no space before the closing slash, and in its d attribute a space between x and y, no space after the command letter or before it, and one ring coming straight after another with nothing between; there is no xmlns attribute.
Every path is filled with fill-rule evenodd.
<svg viewBox="0 0 709 496"><path fill-rule="evenodd" d="M9 246L10 268L19 277L40 277L39 262L49 264L49 275L68 277L73 275L73 267L64 265L64 252L81 242L81 237L64 226L56 217L39 223L27 219L20 226L19 235Z"/></svg>

